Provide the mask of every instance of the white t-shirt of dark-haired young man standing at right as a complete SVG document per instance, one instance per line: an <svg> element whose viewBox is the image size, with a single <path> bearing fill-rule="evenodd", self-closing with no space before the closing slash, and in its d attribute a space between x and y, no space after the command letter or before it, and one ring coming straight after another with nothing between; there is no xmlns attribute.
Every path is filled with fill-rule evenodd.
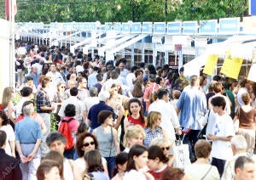
<svg viewBox="0 0 256 180"><path fill-rule="evenodd" d="M230 115L217 114L213 135L225 138L236 135ZM211 156L220 160L230 160L233 156L230 141L212 141Z"/></svg>

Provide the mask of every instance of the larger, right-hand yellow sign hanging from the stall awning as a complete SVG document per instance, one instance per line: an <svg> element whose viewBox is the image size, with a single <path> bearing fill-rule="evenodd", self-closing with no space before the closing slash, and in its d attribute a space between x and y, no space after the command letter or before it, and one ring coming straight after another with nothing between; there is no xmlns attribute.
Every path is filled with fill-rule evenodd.
<svg viewBox="0 0 256 180"><path fill-rule="evenodd" d="M228 56L224 59L224 64L220 70L226 76L236 79L241 69L242 58L231 58Z"/></svg>

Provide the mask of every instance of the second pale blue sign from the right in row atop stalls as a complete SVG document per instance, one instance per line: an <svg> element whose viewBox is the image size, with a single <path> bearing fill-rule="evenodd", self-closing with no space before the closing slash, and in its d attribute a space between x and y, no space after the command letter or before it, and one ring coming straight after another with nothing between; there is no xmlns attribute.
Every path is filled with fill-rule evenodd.
<svg viewBox="0 0 256 180"><path fill-rule="evenodd" d="M217 20L200 20L199 33L203 35L216 34L217 33Z"/></svg>

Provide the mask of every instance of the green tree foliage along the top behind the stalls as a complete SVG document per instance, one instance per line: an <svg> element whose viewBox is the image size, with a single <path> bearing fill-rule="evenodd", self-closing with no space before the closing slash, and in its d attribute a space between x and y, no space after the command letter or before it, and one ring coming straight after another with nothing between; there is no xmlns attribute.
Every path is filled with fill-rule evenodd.
<svg viewBox="0 0 256 180"><path fill-rule="evenodd" d="M247 15L247 0L17 0L17 9L16 22L216 20Z"/></svg>

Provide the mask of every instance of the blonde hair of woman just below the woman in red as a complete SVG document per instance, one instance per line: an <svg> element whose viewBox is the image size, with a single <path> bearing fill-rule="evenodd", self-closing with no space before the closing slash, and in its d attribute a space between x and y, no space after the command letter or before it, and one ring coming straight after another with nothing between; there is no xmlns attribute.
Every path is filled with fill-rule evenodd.
<svg viewBox="0 0 256 180"><path fill-rule="evenodd" d="M128 147L129 144L127 142L127 138L137 138L140 134L143 136L143 138L145 138L144 129L140 125L134 125L134 126L127 127L127 130L126 130L125 136L124 136L123 145L125 147Z"/></svg>

